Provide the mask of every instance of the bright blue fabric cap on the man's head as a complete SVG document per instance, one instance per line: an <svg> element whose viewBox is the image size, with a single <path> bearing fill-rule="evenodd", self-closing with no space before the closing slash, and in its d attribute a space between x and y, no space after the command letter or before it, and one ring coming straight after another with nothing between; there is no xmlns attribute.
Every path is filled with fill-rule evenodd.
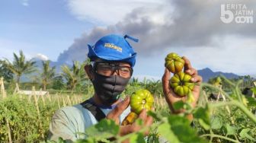
<svg viewBox="0 0 256 143"><path fill-rule="evenodd" d="M110 34L102 37L94 46L88 44L88 58L94 62L95 59L104 59L107 61L128 62L133 67L135 65L136 52L127 42L126 38L138 42L139 40L128 35L121 37Z"/></svg>

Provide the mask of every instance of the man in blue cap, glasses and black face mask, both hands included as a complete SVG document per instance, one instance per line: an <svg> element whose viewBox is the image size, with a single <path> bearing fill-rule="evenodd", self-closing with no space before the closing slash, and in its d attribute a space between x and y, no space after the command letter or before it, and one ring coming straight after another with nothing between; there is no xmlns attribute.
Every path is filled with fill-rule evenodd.
<svg viewBox="0 0 256 143"><path fill-rule="evenodd" d="M50 140L57 140L59 137L67 141L75 141L78 138L85 138L79 134L85 132L89 126L96 124L100 119L113 119L117 124L123 121L130 113L130 98L120 100L120 94L124 91L126 84L133 75L133 66L136 62L136 52L126 39L137 41L133 37L120 37L107 35L98 40L94 46L88 45L88 58L92 65L85 65L85 71L94 85L94 96L84 103L66 106L56 111L50 123ZM185 72L193 76L193 82L200 83L202 79L197 71L191 67L188 59L185 60ZM165 69L163 75L163 87L165 99L174 113L172 103L178 100L185 100L186 97L178 97L169 87L170 72ZM199 96L199 86L194 87L196 105ZM139 118L144 121L144 126L150 126L153 122L151 116L147 116L146 110L142 110ZM192 119L192 116L188 117ZM136 124L120 126L120 135L136 132L140 126Z"/></svg>

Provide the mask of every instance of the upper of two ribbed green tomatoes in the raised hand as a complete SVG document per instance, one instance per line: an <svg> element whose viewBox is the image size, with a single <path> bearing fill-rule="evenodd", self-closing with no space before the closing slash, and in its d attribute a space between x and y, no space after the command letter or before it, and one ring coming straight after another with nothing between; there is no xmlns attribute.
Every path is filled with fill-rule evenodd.
<svg viewBox="0 0 256 143"><path fill-rule="evenodd" d="M177 53L171 52L165 58L165 67L168 68L172 73L182 71L184 67L184 59L178 56Z"/></svg>

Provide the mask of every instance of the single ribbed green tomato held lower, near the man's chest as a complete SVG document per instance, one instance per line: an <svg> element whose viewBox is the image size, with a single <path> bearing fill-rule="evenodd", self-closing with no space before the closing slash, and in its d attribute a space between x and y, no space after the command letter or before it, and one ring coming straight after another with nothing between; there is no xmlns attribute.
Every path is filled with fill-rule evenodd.
<svg viewBox="0 0 256 143"><path fill-rule="evenodd" d="M139 114L143 109L150 110L154 103L154 97L147 90L138 90L130 97L131 110Z"/></svg>

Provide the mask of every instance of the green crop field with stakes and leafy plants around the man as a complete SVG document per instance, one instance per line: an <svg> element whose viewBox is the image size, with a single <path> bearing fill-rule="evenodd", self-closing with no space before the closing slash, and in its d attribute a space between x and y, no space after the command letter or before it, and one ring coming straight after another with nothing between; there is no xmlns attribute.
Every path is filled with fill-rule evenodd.
<svg viewBox="0 0 256 143"><path fill-rule="evenodd" d="M226 78L224 80L228 81ZM229 82L229 81L228 81ZM129 95L144 88L154 94L155 113L150 113L155 122L151 127L147 141L158 142L159 138L171 142L255 142L256 138L256 100L254 94L245 96L237 84L229 83L229 94L212 84L202 85L197 108L192 110L186 103L175 104L183 108L183 115L173 115L162 97L160 81L133 80L126 91ZM241 83L240 83L241 84ZM3 88L3 87L2 87ZM253 88L254 89L254 88ZM33 92L33 90L32 90ZM62 91L63 92L63 91ZM213 100L211 93L223 96ZM0 142L50 142L47 141L47 130L53 113L62 106L72 106L91 97L91 94L49 94L30 96L1 92L0 100ZM184 117L193 113L193 126ZM113 123L113 122L112 122ZM139 121L138 121L139 123ZM101 126L101 129L98 128ZM111 121L103 120L98 126L88 129L89 138L80 142L106 141L115 137L117 142L130 138L131 142L143 140L142 131L120 137L118 126ZM111 131L109 129L112 129ZM145 129L144 129L145 130ZM104 132L107 132L104 134ZM144 140L143 140L144 141ZM59 142L64 142L59 140Z"/></svg>

